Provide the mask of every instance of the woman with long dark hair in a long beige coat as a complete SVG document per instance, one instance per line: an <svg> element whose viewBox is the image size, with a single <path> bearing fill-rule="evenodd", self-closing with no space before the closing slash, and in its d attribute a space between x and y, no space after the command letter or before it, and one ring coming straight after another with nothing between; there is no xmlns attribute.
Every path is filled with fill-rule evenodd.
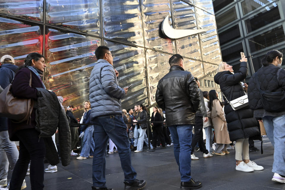
<svg viewBox="0 0 285 190"><path fill-rule="evenodd" d="M229 140L229 132L227 129L227 122L222 108L222 103L218 99L218 93L215 90L209 92L209 109L211 111L210 117L215 130L216 149L215 154L225 155L229 154L227 146L232 143Z"/></svg>

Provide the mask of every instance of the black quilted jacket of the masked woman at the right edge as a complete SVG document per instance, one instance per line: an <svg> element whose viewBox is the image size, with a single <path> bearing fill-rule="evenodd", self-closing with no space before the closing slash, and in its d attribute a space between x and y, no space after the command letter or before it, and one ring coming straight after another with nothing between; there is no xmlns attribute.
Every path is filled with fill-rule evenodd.
<svg viewBox="0 0 285 190"><path fill-rule="evenodd" d="M261 67L251 76L248 84L248 103L249 107L252 110L262 108L260 93L257 87L257 78L261 90L268 92L278 92L285 90L284 69L274 66L273 64Z"/></svg>

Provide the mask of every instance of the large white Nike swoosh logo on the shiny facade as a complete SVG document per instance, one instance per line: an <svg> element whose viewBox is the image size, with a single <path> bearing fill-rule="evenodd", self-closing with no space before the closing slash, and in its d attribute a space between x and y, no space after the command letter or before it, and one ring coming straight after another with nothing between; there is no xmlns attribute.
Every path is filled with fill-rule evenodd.
<svg viewBox="0 0 285 190"><path fill-rule="evenodd" d="M183 38L183 37L187 37L187 36L191 36L194 34L198 34L198 33L207 31L206 29L200 29L200 30L197 30L197 29L183 29L183 30L173 29L168 22L168 17L169 17L169 15L167 15L164 18L164 20L162 21L161 30L162 30L162 33L170 39Z"/></svg>

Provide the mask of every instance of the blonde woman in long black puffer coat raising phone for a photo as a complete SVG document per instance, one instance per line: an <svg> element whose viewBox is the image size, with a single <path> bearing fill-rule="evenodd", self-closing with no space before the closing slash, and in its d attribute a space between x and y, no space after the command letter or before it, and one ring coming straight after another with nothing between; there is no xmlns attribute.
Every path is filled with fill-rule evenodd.
<svg viewBox="0 0 285 190"><path fill-rule="evenodd" d="M244 56L240 60L240 69L233 74L232 66L222 62L218 67L218 73L215 75L215 83L220 85L221 92L228 101L232 101L245 95L243 85L240 83L248 74L247 58ZM247 85L245 84L245 88ZM236 170L251 172L254 170L263 170L262 166L249 160L248 138L259 139L260 129L256 119L248 106L239 110L233 110L231 105L225 99L224 112L226 114L229 138L235 141L235 159Z"/></svg>

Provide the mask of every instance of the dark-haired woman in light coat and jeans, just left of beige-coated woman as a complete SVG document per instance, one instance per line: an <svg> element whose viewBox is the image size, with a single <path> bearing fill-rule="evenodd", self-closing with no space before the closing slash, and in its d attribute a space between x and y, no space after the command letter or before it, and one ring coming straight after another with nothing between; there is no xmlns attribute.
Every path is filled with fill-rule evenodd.
<svg viewBox="0 0 285 190"><path fill-rule="evenodd" d="M206 111L208 114L208 121L203 123L203 128L206 134L206 149L209 151L210 154L214 152L212 144L213 144L213 130L212 130L212 120L210 118L210 109L208 107L209 104L209 92L203 91L203 97L205 102ZM203 118L203 121L205 118Z"/></svg>

